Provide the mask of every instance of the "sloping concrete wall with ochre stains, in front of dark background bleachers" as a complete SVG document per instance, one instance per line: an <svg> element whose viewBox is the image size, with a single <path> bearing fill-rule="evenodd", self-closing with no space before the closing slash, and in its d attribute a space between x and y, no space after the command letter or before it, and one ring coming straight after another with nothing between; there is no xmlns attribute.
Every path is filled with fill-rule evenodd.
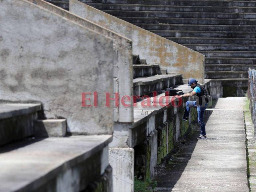
<svg viewBox="0 0 256 192"><path fill-rule="evenodd" d="M202 54L77 0L70 0L69 6L71 12L132 39L132 53L147 59L148 63L159 63L168 73L179 73L183 78L194 77L204 83Z"/></svg>

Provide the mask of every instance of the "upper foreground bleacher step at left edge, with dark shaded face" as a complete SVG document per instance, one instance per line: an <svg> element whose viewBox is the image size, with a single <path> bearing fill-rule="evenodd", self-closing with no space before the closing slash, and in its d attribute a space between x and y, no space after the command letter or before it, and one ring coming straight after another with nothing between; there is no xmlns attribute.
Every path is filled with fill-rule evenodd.
<svg viewBox="0 0 256 192"><path fill-rule="evenodd" d="M0 145L32 136L41 104L0 104Z"/></svg>

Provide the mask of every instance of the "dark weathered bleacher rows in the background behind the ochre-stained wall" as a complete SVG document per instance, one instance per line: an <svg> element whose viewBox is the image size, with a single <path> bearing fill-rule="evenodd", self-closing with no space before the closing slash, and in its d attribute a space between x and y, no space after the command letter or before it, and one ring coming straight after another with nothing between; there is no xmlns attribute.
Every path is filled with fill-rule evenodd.
<svg viewBox="0 0 256 192"><path fill-rule="evenodd" d="M205 78L247 78L256 66L256 1L82 1L204 54Z"/></svg>

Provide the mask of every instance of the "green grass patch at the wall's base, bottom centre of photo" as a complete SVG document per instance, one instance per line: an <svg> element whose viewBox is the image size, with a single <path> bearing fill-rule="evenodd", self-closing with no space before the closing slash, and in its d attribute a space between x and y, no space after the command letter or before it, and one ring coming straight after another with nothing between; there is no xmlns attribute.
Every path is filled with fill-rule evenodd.
<svg viewBox="0 0 256 192"><path fill-rule="evenodd" d="M151 181L150 179L147 179L146 181L141 181L137 177L134 177L135 192L153 192L156 186L156 181Z"/></svg>

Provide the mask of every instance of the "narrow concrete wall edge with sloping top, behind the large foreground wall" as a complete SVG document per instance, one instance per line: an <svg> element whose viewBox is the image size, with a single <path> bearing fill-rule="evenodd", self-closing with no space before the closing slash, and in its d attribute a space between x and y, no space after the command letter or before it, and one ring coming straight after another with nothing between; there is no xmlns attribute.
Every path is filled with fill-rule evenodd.
<svg viewBox="0 0 256 192"><path fill-rule="evenodd" d="M50 10L62 17L67 18L77 24L88 27L94 31L101 33L113 39L114 42L114 92L120 93L119 103L121 98L125 95L132 96L132 43L131 40L121 36L114 31L108 30L98 24L88 21L84 18L78 17L71 12L65 11L57 6L47 3L42 0L28 0L47 10ZM126 104L130 104L126 102ZM114 120L116 122L133 122L133 108L120 105L114 109Z"/></svg>

